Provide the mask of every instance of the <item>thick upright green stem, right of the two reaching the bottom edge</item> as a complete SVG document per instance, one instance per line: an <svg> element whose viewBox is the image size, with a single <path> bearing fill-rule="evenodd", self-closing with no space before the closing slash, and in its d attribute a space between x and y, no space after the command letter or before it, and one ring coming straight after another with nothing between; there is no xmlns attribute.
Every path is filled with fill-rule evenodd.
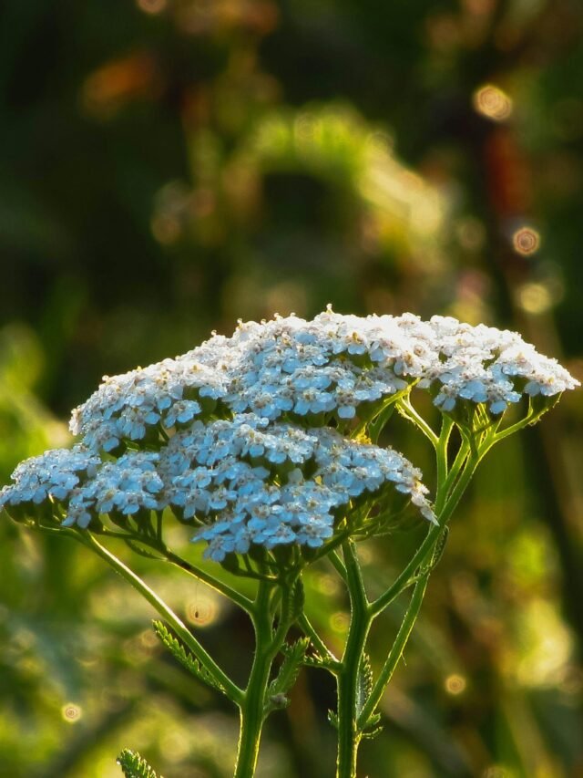
<svg viewBox="0 0 583 778"><path fill-rule="evenodd" d="M343 544L344 562L351 600L351 620L338 672L338 757L337 778L354 778L356 757L362 731L357 725L358 692L361 682L361 662L371 626L368 600L364 591L360 565L352 541Z"/></svg>

